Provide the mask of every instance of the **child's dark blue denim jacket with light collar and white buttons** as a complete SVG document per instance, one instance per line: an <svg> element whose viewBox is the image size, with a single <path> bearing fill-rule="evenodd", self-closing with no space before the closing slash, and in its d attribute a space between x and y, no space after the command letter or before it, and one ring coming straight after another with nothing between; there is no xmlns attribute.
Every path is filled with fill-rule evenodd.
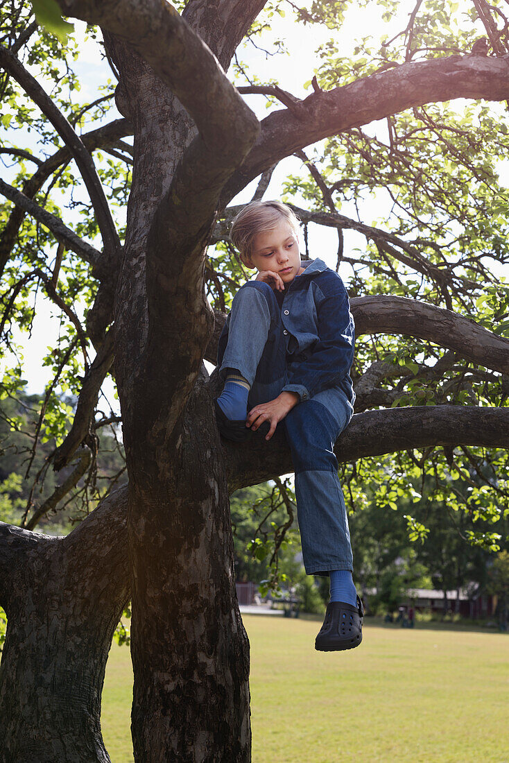
<svg viewBox="0 0 509 763"><path fill-rule="evenodd" d="M350 367L355 324L343 281L321 259L301 262L304 272L288 287L281 308L287 336L287 383L301 401L340 387L353 404Z"/></svg>

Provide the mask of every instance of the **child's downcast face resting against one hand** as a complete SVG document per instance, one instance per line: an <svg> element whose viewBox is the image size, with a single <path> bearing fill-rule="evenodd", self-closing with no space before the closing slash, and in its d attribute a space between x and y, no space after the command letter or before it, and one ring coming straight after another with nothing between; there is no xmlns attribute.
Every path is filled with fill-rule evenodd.
<svg viewBox="0 0 509 763"><path fill-rule="evenodd" d="M275 228L254 237L253 253L247 266L256 268L258 272L276 272L285 285L292 283L295 276L303 272L295 230L284 217Z"/></svg>

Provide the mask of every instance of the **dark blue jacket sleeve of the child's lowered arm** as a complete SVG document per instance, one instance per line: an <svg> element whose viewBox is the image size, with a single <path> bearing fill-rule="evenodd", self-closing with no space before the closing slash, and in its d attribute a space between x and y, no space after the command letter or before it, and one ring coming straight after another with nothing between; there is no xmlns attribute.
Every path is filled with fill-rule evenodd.
<svg viewBox="0 0 509 763"><path fill-rule="evenodd" d="M304 357L288 364L288 383L283 388L297 392L301 401L340 384L353 363L355 324L346 289L336 274L321 282L315 302L318 338Z"/></svg>

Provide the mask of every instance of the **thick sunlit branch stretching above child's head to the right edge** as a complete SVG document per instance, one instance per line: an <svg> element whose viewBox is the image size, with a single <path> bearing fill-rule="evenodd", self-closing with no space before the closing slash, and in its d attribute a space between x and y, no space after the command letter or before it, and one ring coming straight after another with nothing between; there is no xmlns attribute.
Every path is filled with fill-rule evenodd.
<svg viewBox="0 0 509 763"><path fill-rule="evenodd" d="M350 85L314 92L299 105L300 118L285 109L262 121L259 139L224 189L222 207L272 164L324 137L426 103L455 98L504 101L509 97L508 75L506 59L449 56L404 63Z"/></svg>

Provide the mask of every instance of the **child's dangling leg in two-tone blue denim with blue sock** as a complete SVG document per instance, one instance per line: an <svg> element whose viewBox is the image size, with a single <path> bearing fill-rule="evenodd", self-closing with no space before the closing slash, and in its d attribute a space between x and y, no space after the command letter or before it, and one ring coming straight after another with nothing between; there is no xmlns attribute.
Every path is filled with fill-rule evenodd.
<svg viewBox="0 0 509 763"><path fill-rule="evenodd" d="M333 452L351 415L352 406L344 394L327 390L295 406L285 418L285 428L295 468L306 572L330 575L331 600L355 606L350 531Z"/></svg>

